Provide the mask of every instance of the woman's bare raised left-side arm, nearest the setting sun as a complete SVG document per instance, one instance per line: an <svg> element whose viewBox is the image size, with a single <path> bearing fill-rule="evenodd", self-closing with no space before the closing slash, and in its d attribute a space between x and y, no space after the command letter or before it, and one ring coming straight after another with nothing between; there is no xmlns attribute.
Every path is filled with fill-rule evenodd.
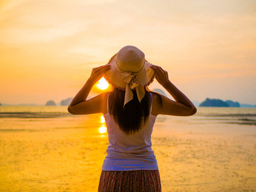
<svg viewBox="0 0 256 192"><path fill-rule="evenodd" d="M73 115L86 115L91 113L103 113L103 103L106 93L102 93L86 100L93 85L99 81L106 70L109 70L110 65L103 65L97 68L93 68L92 74L84 84L83 88L77 93L76 97L70 102L68 106L68 112Z"/></svg>

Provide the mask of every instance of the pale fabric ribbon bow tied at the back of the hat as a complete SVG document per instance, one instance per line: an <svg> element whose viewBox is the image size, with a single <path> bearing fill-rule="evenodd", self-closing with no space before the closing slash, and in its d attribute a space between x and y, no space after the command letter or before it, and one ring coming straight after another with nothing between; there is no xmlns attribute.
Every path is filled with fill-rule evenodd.
<svg viewBox="0 0 256 192"><path fill-rule="evenodd" d="M145 96L145 89L144 85L141 83L139 77L136 75L136 73L132 72L124 72L120 74L122 79L124 79L126 83L125 88L125 98L124 98L124 106L133 99L133 93L132 90L136 88L136 93L138 96L138 100L141 102L143 97Z"/></svg>

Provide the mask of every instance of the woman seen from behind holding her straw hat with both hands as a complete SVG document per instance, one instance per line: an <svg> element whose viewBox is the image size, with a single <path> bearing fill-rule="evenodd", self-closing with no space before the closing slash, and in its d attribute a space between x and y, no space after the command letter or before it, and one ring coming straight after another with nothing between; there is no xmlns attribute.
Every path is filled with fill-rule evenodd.
<svg viewBox="0 0 256 192"><path fill-rule="evenodd" d="M93 84L102 76L113 85L113 91L86 100ZM148 90L154 77L175 101ZM68 111L73 115L104 114L109 145L99 191L161 191L156 156L151 148L156 116L189 116L196 113L196 108L170 82L163 68L148 63L137 47L125 46L107 65L93 68Z"/></svg>

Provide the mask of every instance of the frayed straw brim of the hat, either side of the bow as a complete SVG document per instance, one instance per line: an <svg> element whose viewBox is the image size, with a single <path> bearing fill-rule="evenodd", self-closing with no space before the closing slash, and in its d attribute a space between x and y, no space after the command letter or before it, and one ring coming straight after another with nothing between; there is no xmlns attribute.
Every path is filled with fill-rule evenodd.
<svg viewBox="0 0 256 192"><path fill-rule="evenodd" d="M116 65L115 57L116 54L109 60L109 63L107 65L111 65L111 68L105 72L104 78L115 88L125 90L127 83L125 83L125 81L121 77L121 74L125 71L120 69L118 65ZM150 68L150 65L151 64L147 60L145 60L143 68L141 68L141 70L136 73L144 86L148 86L154 81L154 70Z"/></svg>

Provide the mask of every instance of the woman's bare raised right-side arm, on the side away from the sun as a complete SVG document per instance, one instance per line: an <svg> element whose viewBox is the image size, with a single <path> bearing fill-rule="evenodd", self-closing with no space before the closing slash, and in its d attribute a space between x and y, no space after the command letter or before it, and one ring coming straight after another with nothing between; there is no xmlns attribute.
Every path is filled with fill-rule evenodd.
<svg viewBox="0 0 256 192"><path fill-rule="evenodd" d="M180 92L180 90L168 79L168 73L163 68L152 65L151 68L156 72L157 81L172 95L173 99L163 98L163 105L157 104L155 113L163 115L190 116L196 113L196 108L191 100Z"/></svg>

